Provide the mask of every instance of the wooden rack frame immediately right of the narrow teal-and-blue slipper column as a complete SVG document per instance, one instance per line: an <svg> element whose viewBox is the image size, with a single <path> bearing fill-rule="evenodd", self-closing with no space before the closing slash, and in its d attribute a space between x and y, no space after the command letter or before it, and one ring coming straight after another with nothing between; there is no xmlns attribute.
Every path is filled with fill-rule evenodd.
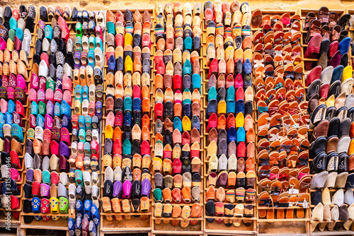
<svg viewBox="0 0 354 236"><path fill-rule="evenodd" d="M141 14L144 13L144 9L137 9ZM125 9L115 9L115 10L110 10L113 12L113 14L117 13L117 11L122 11L122 13L124 13ZM135 10L134 10L135 11ZM152 9L148 9L150 16L152 16ZM153 20L153 18L152 18ZM105 30L105 35L108 34L107 30ZM153 35L154 34L154 29L151 28L151 33L150 36L153 40ZM153 42L152 42L153 45ZM108 48L107 42L105 42L105 52ZM152 47L153 49L153 47ZM154 57L152 54L152 49L150 50L150 61L154 61ZM105 58L105 67L104 67L104 77L107 75L108 73L108 65L107 65L107 59ZM134 61L134 59L133 59ZM150 66L150 69L152 70L152 66ZM152 101L152 83L153 83L154 79L153 79L153 75L152 73L150 73L150 84L149 84L149 88L150 88L150 101ZM104 90L104 95L103 95L103 119L102 119L102 126L101 126L101 131L102 131L102 150L101 150L101 156L103 156L103 149L104 149L104 143L105 143L105 119L107 118L107 114L105 113L105 92L106 92L106 88L107 88L107 82L104 79L103 81L103 90ZM149 112L149 117L150 117L150 138L152 139L152 105L150 103L150 112ZM142 114L143 115L143 114ZM122 131L123 133L123 131ZM114 141L113 141L114 142ZM151 141L152 142L152 141ZM152 150L152 145L150 143L150 150ZM103 165L101 165L102 169L101 169L101 196L100 199L103 197L103 182L104 182L104 174L105 174L105 168L103 167ZM113 168L114 170L114 168ZM150 171L150 173L152 174L152 171ZM132 201L130 199L130 201ZM152 215L152 193L150 194L149 197L149 201L150 201L150 211L147 213L105 213L103 211L103 207L101 206L101 222L100 222L100 232L101 232L101 236L103 235L110 235L110 234L126 234L126 233L148 233L150 234L152 228L151 228L151 215ZM101 201L100 201L101 203ZM121 203L121 201L120 201ZM142 220L140 218L140 216L148 216L147 220ZM107 220L107 217L110 216L113 218L113 220ZM122 217L121 220L116 220L115 217ZM129 218L128 218L129 217ZM118 230L119 229L119 230Z"/></svg>

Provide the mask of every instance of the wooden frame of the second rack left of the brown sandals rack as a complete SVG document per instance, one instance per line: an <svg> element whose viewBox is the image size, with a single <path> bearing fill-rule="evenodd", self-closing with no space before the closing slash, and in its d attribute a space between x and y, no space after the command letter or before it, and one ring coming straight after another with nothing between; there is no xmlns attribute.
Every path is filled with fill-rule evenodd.
<svg viewBox="0 0 354 236"><path fill-rule="evenodd" d="M203 12L203 11L202 11ZM155 11L153 13L153 20L152 20L152 30L155 29L155 25L156 25L156 14ZM202 17L200 17L200 19L202 20ZM166 20L166 19L165 19ZM166 23L166 22L165 22ZM166 33L166 27L164 27L165 33ZM154 54L157 51L157 45L156 45L156 35L154 34L152 36L152 55L154 58ZM200 39L202 41L202 37ZM200 76L201 76L201 81L203 81L203 77L202 77L202 70L203 70L203 66L202 66L202 42L201 42L201 48L200 48L200 57L199 57L199 62L200 62ZM152 83L152 110L154 111L154 105L155 105L155 92L156 92L156 85L155 85L155 76L156 76L156 63L154 61L154 59L152 59L152 65L153 65L153 71L152 71L152 78L153 78L153 83ZM183 65L182 65L183 66ZM193 66L192 66L193 68ZM203 182L204 182L204 178L202 176L203 173L203 160L202 160L202 156L203 153L205 153L205 149L203 148L203 139L205 138L205 129L203 129L203 124L204 122L202 121L202 117L204 114L204 110L203 110L203 100L205 98L205 96L203 95L203 85L201 86L201 91L200 91L200 98L201 98L201 106L200 106L200 160L202 161L202 165L201 165L201 170L200 170L200 175L201 175L201 184L200 184L200 205L202 206L202 213L200 214L200 218L188 218L188 220L198 220L198 223L196 225L191 225L189 223L189 225L186 228L182 228L181 224L178 223L178 225L173 226L171 224L171 220L184 220L181 217L178 218L163 218L163 217L155 217L154 215L154 211L155 211L155 203L154 200L152 200L152 236L156 236L156 235L203 235L203 211L204 211L204 203L203 203ZM183 93L183 91L181 91ZM193 91L191 91L192 93ZM154 159L154 154L155 154L155 120L154 120L154 115L155 112L152 112L152 159ZM164 124L164 121L162 121ZM173 122L173 120L171 120L171 122ZM182 148L182 147L181 147ZM154 191L154 174L155 172L152 171L152 191ZM165 204L165 203L163 203ZM183 208L183 206L190 206L190 208L193 206L193 203L171 203L172 206L174 205L178 205L181 206L181 208ZM166 220L166 223L164 223L164 220Z"/></svg>

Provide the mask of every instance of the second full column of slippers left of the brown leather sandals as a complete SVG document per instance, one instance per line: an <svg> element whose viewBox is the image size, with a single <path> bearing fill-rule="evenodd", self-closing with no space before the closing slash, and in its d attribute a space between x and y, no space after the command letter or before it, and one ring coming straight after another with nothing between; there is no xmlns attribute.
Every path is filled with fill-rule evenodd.
<svg viewBox="0 0 354 236"><path fill-rule="evenodd" d="M157 5L154 14L154 223L187 228L202 213L202 5Z"/></svg>

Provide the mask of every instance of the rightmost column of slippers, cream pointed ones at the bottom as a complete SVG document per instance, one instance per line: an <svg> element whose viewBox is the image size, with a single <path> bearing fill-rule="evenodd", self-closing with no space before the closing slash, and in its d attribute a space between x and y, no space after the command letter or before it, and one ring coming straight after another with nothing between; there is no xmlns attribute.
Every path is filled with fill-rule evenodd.
<svg viewBox="0 0 354 236"><path fill-rule="evenodd" d="M354 160L354 142L351 141L354 137L354 80L353 67L348 66L349 18L349 14L338 17L322 7L317 18L310 12L305 19L305 29L309 30L305 56L311 53L319 58L316 64L305 67L312 69L306 78L311 112L309 128L312 129L310 173L314 175L312 230L316 230L317 225L320 231L349 230L354 218L350 214L354 207L354 174L351 173L354 169L350 164ZM316 31L320 27L321 32Z"/></svg>

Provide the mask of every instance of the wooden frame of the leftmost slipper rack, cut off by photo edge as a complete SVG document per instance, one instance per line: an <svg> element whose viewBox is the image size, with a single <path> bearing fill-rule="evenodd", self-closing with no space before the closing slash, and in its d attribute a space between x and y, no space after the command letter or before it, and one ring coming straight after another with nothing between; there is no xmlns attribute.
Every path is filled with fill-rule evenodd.
<svg viewBox="0 0 354 236"><path fill-rule="evenodd" d="M36 19L35 22L38 22L39 14L36 14ZM37 37L37 27L38 25L35 24L33 33L31 33L32 36L32 42L30 44L30 54L28 54L28 65L26 65L26 71L28 74L28 79L25 80L26 86L29 89L30 85L30 76L32 74L32 69L33 69L33 54L35 53L35 40ZM23 199L22 197L24 196L23 193L23 184L25 184L25 161L24 161L24 155L25 155L25 140L27 139L27 130L28 130L28 117L30 116L30 102L28 99L28 92L25 93L25 98L26 102L25 105L23 105L23 108L25 110L25 117L22 118L22 123L23 123L23 143L21 143L22 146L22 153L18 154L18 158L20 160L21 168L18 168L18 173L20 174L20 181L16 181L17 186L20 188L20 194L19 195L14 195L18 197L18 200L20 202L20 206L18 209L11 209L10 211L6 211L6 208L0 208L0 211L2 212L0 214L0 228L6 228L8 227L6 223L8 223L8 220L6 219L7 213L11 213L11 228L18 228L21 225L21 211L23 208ZM5 180L0 181L1 184L6 184ZM15 218L13 214L18 214L18 216Z"/></svg>

